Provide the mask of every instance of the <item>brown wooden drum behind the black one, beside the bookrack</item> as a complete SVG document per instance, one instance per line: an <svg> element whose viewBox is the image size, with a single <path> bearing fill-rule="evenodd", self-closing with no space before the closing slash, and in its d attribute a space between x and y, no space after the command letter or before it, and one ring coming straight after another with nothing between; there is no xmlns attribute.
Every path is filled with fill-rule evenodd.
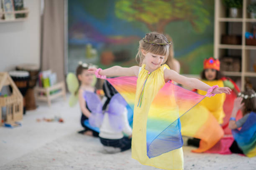
<svg viewBox="0 0 256 170"><path fill-rule="evenodd" d="M29 72L30 79L28 80L28 90L25 95L26 100L26 110L35 110L36 109L36 100L34 87L38 79L39 66L35 64L23 64L18 65L16 70L25 70Z"/></svg>

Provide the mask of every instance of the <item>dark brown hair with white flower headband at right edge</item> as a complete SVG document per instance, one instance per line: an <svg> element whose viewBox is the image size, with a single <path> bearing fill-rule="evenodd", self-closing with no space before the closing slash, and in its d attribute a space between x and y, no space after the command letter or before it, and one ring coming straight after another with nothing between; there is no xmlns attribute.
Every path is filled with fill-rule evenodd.
<svg viewBox="0 0 256 170"><path fill-rule="evenodd" d="M256 112L256 95L254 90L241 92L238 94L238 97L239 96L243 97L243 100L242 100L242 103L244 103L244 108L242 110L243 116L250 112Z"/></svg>

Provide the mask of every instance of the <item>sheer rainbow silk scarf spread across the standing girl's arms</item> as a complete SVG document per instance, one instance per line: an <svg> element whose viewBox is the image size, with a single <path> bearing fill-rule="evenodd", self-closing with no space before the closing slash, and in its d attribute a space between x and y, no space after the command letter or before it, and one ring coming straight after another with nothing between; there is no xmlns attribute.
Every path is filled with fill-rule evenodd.
<svg viewBox="0 0 256 170"><path fill-rule="evenodd" d="M107 80L131 108L139 107L138 101L135 101L137 77L117 77ZM182 122L179 118L204 97L170 81L166 82L155 96L148 112L145 144L148 158L182 147ZM140 101L141 103L143 105L143 100Z"/></svg>

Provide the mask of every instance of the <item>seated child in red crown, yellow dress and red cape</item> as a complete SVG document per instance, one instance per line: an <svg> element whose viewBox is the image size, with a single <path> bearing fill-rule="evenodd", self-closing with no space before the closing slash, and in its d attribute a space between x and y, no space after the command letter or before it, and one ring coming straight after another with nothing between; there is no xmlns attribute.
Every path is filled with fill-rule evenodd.
<svg viewBox="0 0 256 170"><path fill-rule="evenodd" d="M225 95L224 93L218 94L210 98L207 97L198 104L198 107L200 107L201 109L197 110L197 112L203 112L203 110L210 112L210 115L213 115L213 117L215 117L215 119L217 120L218 124L222 126L224 132L221 127L218 126L218 124L215 125L215 128L219 130L211 132L212 135L218 136L220 139L224 133L231 134L231 130L228 128L228 120L232 112L234 99L236 98L236 94L240 92L240 90L237 87L236 83L233 82L230 78L223 77L220 72L220 61L218 59L210 57L204 60L203 65L204 70L201 72L202 82L205 82L207 85L210 86L218 85L219 87L229 87L230 89L232 89L231 95ZM197 93L200 95L205 95L205 92L202 90L197 90ZM237 118L241 118L241 113L238 113ZM215 138L215 140L217 141L217 138ZM187 144L200 147L200 139L189 139L187 141Z"/></svg>

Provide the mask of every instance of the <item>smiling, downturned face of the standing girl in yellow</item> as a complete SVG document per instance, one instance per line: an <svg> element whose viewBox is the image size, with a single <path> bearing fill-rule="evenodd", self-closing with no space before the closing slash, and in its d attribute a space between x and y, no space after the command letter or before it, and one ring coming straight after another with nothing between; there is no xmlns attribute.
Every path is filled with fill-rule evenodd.
<svg viewBox="0 0 256 170"><path fill-rule="evenodd" d="M164 62L164 55L155 55L151 52L145 52L142 50L142 54L145 56L143 63L146 64L146 70L152 72L161 67Z"/></svg>

